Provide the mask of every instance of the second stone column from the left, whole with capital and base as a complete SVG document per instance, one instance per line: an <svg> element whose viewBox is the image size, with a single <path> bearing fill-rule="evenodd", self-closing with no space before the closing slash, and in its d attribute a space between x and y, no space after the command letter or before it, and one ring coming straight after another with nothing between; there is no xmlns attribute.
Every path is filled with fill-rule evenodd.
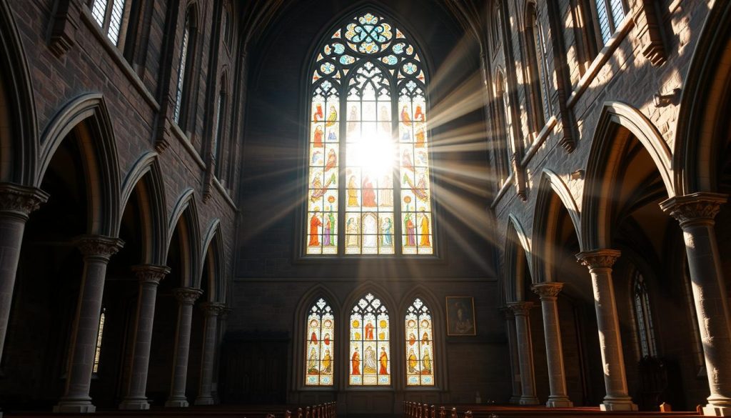
<svg viewBox="0 0 731 418"><path fill-rule="evenodd" d="M78 240L84 258L84 270L72 327L69 347L69 368L64 396L53 407L54 412L94 412L89 387L94 370L99 315L102 312L104 281L109 258L124 245L121 239L86 235Z"/></svg>

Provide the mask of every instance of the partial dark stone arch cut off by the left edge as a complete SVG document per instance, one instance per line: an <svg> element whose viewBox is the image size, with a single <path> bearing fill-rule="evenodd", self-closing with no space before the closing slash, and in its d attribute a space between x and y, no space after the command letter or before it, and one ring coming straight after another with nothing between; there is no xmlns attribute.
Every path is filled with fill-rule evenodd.
<svg viewBox="0 0 731 418"><path fill-rule="evenodd" d="M0 1L0 182L36 184L38 130L31 78L10 1Z"/></svg>

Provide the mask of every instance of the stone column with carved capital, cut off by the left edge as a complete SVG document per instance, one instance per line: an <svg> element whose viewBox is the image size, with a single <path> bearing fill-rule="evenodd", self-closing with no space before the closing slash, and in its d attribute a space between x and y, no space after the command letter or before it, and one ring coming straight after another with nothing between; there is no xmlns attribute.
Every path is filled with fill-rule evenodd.
<svg viewBox="0 0 731 418"><path fill-rule="evenodd" d="M48 194L34 187L0 184L0 359L10 320L12 289L18 271L23 231L31 212L48 201Z"/></svg>

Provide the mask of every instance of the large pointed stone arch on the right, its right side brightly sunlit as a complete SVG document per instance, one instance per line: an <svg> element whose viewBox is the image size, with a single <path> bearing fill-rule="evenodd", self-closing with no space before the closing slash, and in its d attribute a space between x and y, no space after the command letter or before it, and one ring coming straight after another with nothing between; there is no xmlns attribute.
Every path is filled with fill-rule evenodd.
<svg viewBox="0 0 731 418"><path fill-rule="evenodd" d="M624 128L626 132L621 132ZM621 149L637 138L655 163L667 196L673 197L670 147L643 113L621 102L605 102L594 130L584 180L580 246L583 250L608 248L612 179L618 177Z"/></svg>

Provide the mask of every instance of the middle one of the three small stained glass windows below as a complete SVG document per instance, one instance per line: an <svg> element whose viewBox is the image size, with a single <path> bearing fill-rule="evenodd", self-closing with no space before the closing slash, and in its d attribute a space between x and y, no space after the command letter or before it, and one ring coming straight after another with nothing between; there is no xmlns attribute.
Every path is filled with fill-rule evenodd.
<svg viewBox="0 0 731 418"><path fill-rule="evenodd" d="M373 294L360 299L350 313L349 384L391 384L388 310Z"/></svg>

